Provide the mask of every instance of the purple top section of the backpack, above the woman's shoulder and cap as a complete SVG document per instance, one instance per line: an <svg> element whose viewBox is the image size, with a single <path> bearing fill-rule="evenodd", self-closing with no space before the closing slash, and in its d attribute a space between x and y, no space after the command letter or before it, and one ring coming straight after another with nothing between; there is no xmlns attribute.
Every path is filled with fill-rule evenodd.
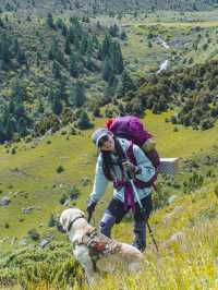
<svg viewBox="0 0 218 290"><path fill-rule="evenodd" d="M131 140L133 143L138 146L152 138L149 134L141 123L140 119L134 116L124 116L111 118L106 121L106 126L116 136L124 137Z"/></svg>

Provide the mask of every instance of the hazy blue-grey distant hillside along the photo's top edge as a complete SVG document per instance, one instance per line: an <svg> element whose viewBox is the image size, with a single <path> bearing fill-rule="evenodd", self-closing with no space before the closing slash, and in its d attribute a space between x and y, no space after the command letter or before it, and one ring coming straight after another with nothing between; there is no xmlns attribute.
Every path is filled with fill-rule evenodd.
<svg viewBox="0 0 218 290"><path fill-rule="evenodd" d="M206 10L217 7L217 0L119 0L119 1L107 1L107 0L38 0L38 1L26 1L26 0L2 0L1 8L8 11L26 9L36 9L40 13L46 13L60 10L77 10L80 13L89 12L94 14L98 13L118 13L118 12L130 12L138 10L179 10L179 11L197 11Z"/></svg>

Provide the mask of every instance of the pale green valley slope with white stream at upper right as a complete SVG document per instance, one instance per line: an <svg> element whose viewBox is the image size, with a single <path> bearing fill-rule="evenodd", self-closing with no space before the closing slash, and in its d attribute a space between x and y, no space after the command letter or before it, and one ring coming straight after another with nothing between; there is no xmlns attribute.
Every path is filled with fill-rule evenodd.
<svg viewBox="0 0 218 290"><path fill-rule="evenodd" d="M180 14L158 11L147 17L142 14L137 19L126 16L117 21L129 36L122 47L124 59L130 62L128 68L132 73L144 75L145 72L157 71L158 65L166 59L170 61L171 69L192 67L217 59L216 12L217 10ZM102 20L102 23L109 24L107 19ZM154 35L152 39L147 38L149 32ZM170 49L157 44L158 35L167 41ZM195 50L194 44L197 39ZM148 41L152 43L152 48L148 47Z"/></svg>

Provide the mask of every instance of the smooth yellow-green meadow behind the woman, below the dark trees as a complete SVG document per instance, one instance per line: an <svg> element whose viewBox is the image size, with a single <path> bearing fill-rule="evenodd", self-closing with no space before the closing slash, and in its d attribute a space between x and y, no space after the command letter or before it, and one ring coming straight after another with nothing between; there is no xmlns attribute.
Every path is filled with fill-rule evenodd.
<svg viewBox="0 0 218 290"><path fill-rule="evenodd" d="M169 113L154 116L148 113L143 120L158 142L158 149L165 157L189 157L192 154L207 150L217 143L218 126L201 132L191 129L179 129L173 132L173 125L166 123ZM96 121L96 126L102 125L104 120ZM85 208L85 201L92 190L92 184L81 185L81 179L93 179L95 168L95 148L90 143L92 131L83 135L71 136L56 134L38 142L35 148L31 144L17 144L17 153L9 155L5 148L0 148L0 196L10 196L12 202L8 208L0 208L0 238L22 238L31 228L44 227L39 232L47 230L50 213L60 212L63 206L59 204L61 195L69 190L70 184L76 184L82 191L77 206ZM47 141L51 144L47 144ZM64 172L58 174L56 169L62 165ZM15 171L14 169L17 168ZM13 188L12 188L12 186ZM56 188L53 188L56 186ZM17 193L17 194L14 194ZM28 193L25 198L25 193ZM104 201L102 201L104 203ZM22 214L22 208L36 206L31 214ZM102 214L106 204L98 207L97 219ZM24 221L19 221L24 218ZM10 225L9 229L4 223ZM9 243L0 243L0 247L8 247Z"/></svg>

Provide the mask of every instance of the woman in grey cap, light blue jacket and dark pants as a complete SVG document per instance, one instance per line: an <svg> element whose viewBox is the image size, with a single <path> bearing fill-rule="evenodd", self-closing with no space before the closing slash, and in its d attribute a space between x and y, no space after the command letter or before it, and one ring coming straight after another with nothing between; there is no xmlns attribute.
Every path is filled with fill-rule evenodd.
<svg viewBox="0 0 218 290"><path fill-rule="evenodd" d="M113 182L113 197L100 220L100 232L110 238L113 225L119 223L132 209L135 234L133 245L143 252L146 246L146 220L153 207L150 181L156 174L155 167L137 145L125 138L116 137L106 128L97 129L92 140L100 153L87 213L92 216L106 192L108 182ZM143 210L140 208L131 181L134 181L134 190L137 191Z"/></svg>

